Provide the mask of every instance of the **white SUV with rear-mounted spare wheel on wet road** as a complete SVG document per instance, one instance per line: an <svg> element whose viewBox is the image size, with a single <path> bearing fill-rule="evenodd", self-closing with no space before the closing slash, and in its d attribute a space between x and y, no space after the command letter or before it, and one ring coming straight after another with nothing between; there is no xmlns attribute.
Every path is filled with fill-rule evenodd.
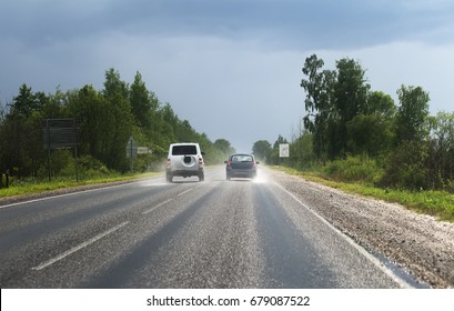
<svg viewBox="0 0 454 311"><path fill-rule="evenodd" d="M199 143L181 142L169 147L168 162L165 164L165 178L168 182L173 177L199 177L199 181L205 179L203 152Z"/></svg>

